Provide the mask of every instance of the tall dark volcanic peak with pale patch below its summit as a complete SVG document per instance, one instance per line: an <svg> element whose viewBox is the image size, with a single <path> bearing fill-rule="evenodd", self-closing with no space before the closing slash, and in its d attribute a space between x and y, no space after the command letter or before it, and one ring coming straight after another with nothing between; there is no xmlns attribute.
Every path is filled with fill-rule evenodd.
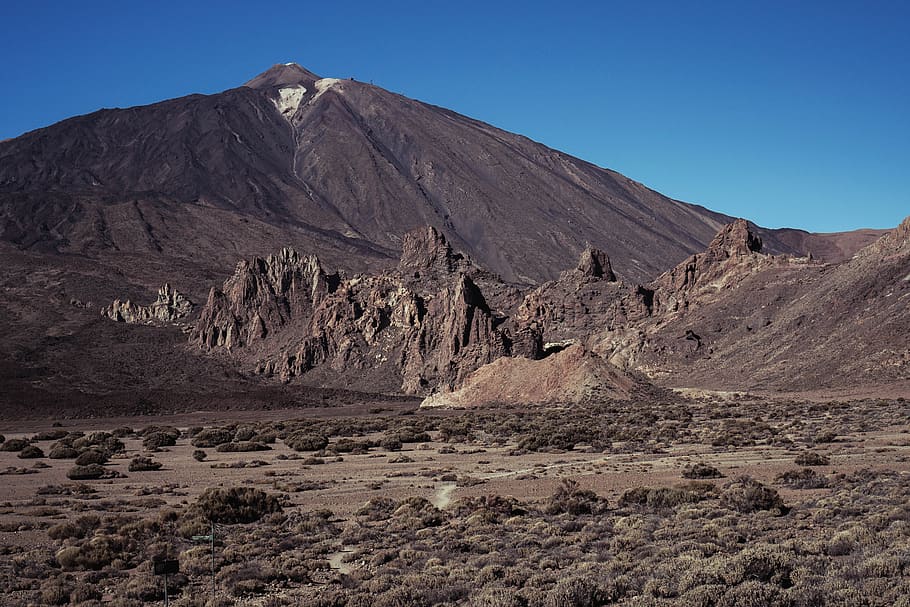
<svg viewBox="0 0 910 607"><path fill-rule="evenodd" d="M520 135L296 64L0 143L0 240L200 272L288 245L351 271L389 267L402 236L430 225L511 282L555 278L586 244L643 281L729 221ZM804 251L794 234L763 232L775 252Z"/></svg>

